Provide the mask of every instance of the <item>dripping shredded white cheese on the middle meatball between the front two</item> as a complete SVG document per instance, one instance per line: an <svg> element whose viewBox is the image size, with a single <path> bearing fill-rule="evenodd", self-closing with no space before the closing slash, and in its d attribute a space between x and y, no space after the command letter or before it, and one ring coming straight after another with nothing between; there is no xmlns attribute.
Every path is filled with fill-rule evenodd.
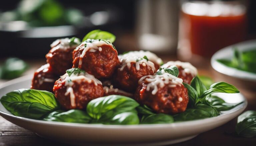
<svg viewBox="0 0 256 146"><path fill-rule="evenodd" d="M131 68L131 63L135 63L136 70L140 70L140 65L147 66L149 69L151 68L153 72L156 71L154 63L151 61L147 61L144 58L138 58L137 56L122 56L118 57L119 62L121 63L120 71L123 71L123 69L127 66L128 69Z"/></svg>

